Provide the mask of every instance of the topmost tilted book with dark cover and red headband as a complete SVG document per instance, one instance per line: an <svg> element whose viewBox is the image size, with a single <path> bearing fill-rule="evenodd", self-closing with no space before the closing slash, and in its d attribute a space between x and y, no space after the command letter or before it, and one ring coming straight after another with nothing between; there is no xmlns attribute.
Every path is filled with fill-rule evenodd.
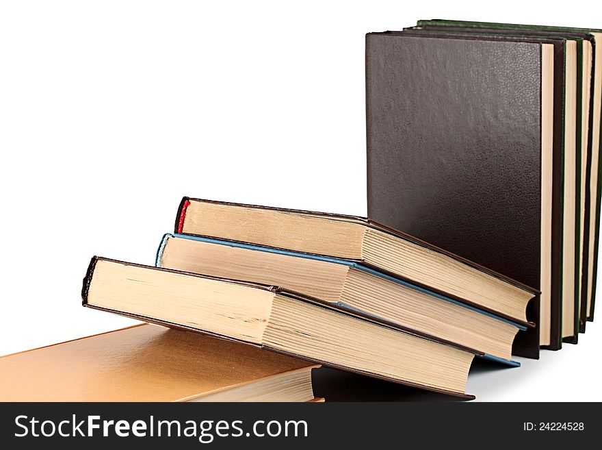
<svg viewBox="0 0 602 450"><path fill-rule="evenodd" d="M175 229L176 234L356 262L526 324L514 354L538 354L537 290L369 218L184 197Z"/></svg>

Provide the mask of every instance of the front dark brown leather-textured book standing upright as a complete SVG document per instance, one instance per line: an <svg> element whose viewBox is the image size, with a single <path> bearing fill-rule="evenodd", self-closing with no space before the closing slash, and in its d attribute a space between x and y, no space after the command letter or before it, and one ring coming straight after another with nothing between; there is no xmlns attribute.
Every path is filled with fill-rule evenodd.
<svg viewBox="0 0 602 450"><path fill-rule="evenodd" d="M540 290L545 348L561 342L555 58L563 40L366 36L369 216Z"/></svg>

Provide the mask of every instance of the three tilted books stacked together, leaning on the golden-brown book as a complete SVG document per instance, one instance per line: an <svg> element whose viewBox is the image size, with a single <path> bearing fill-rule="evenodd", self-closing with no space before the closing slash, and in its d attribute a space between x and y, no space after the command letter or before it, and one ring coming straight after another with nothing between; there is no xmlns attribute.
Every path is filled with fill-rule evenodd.
<svg viewBox="0 0 602 450"><path fill-rule="evenodd" d="M538 347L538 291L366 218L185 197L175 231L155 266L92 258L83 305L461 397Z"/></svg>

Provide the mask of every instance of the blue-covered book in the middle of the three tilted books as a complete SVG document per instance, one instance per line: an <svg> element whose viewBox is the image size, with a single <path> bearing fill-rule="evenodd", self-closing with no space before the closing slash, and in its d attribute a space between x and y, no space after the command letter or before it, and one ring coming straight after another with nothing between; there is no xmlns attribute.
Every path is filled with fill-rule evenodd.
<svg viewBox="0 0 602 450"><path fill-rule="evenodd" d="M479 310L356 262L198 236L166 234L157 267L281 286L456 342L512 366L527 323Z"/></svg>

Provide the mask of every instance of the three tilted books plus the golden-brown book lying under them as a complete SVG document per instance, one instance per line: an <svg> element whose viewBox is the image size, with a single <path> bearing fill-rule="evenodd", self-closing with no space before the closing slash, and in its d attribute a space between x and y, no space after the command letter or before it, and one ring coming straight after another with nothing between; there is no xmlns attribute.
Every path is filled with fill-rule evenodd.
<svg viewBox="0 0 602 450"><path fill-rule="evenodd" d="M538 294L367 218L185 197L155 265L94 256L81 291L164 327L0 358L0 394L319 401L324 365L470 399L473 358L518 366L538 348Z"/></svg>

